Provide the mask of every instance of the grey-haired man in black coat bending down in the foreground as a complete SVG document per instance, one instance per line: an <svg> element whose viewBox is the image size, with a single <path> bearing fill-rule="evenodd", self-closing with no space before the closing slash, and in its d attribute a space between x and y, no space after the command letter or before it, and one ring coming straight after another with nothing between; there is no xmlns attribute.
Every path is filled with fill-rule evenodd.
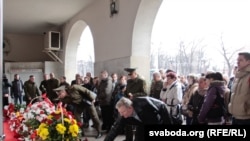
<svg viewBox="0 0 250 141"><path fill-rule="evenodd" d="M113 141L126 124L136 125L135 141L144 141L144 125L172 124L166 105L152 97L137 97L132 100L122 97L116 104L120 117L105 137Z"/></svg>

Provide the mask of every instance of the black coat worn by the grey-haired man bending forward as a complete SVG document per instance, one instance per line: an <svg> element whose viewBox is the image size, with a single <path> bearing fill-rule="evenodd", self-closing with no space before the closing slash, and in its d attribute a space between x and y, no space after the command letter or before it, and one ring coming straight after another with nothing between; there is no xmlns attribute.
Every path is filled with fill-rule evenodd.
<svg viewBox="0 0 250 141"><path fill-rule="evenodd" d="M119 134L120 130L124 129L125 125L136 125L136 139L144 141L144 126L145 125L161 125L161 124L172 124L172 119L166 108L165 103L162 101L146 96L137 97L132 100L133 108L137 113L139 120L129 117L119 117L111 130L105 137L104 141L113 141Z"/></svg>

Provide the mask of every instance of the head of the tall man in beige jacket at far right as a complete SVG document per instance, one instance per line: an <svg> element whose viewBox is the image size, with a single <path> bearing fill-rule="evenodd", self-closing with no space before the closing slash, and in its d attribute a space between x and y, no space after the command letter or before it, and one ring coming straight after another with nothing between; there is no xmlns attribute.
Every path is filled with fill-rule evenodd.
<svg viewBox="0 0 250 141"><path fill-rule="evenodd" d="M237 65L238 70L242 70L250 64L250 53L249 52L241 52L238 54Z"/></svg>

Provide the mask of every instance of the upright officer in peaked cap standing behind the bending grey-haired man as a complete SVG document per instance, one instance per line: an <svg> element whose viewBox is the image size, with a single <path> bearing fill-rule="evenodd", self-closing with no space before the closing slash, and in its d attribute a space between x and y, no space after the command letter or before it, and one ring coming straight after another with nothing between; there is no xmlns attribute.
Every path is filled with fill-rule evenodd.
<svg viewBox="0 0 250 141"><path fill-rule="evenodd" d="M147 96L146 81L142 79L136 72L136 68L125 68L128 72L129 79L127 80L127 88L125 90L125 97L134 99L136 97ZM133 126L127 125L125 127L125 141L133 141Z"/></svg>

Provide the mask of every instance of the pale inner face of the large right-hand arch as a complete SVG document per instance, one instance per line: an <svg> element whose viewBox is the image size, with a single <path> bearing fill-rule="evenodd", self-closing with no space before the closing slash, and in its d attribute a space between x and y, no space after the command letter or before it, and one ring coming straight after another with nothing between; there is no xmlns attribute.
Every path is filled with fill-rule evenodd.
<svg viewBox="0 0 250 141"><path fill-rule="evenodd" d="M134 23L130 66L143 68L139 71L147 81L150 80L151 34L162 1L141 0Z"/></svg>

